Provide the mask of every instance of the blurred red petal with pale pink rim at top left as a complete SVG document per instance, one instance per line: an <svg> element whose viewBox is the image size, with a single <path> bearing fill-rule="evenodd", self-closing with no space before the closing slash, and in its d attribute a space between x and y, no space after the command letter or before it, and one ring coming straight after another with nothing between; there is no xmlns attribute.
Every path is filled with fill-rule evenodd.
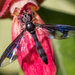
<svg viewBox="0 0 75 75"><path fill-rule="evenodd" d="M20 8L20 7L22 8L23 5L25 5L28 2L40 5L43 2L43 0L6 0L4 3L4 6L1 7L3 5L3 2L4 2L4 0L0 1L0 3L1 3L0 10L2 9L0 12L0 17L2 17L4 15L2 18L6 18L6 17L10 17L10 13L13 13L15 8L18 7L19 5L20 6L18 8ZM9 7L9 10L8 10L8 7ZM10 13L9 13L9 11L10 11ZM6 14L6 13L8 13L8 14Z"/></svg>

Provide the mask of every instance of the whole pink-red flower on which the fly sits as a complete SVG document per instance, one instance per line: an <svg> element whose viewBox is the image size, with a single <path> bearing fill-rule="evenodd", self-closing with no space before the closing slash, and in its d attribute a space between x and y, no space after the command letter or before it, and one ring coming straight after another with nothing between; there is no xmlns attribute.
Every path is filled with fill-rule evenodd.
<svg viewBox="0 0 75 75"><path fill-rule="evenodd" d="M14 40L22 31L20 28L20 21L17 19L17 15L22 14L23 10L31 9L36 14L35 18L40 21L40 24L44 24L42 19L36 13L36 10L39 9L37 2L40 3L40 1L43 0L7 0L5 2L4 7L7 5L10 7L3 7L2 11L0 12L0 16L2 16L8 9L14 16L12 24L12 40ZM18 58L18 62L25 75L56 74L56 65L51 41L48 37L46 37L46 35L39 36L40 33L48 35L48 32L43 32L43 30L41 30L39 27L36 29L38 40L46 52L48 64L45 64L37 53L36 45L31 34L29 32L25 32L18 48L18 51L23 50Z"/></svg>

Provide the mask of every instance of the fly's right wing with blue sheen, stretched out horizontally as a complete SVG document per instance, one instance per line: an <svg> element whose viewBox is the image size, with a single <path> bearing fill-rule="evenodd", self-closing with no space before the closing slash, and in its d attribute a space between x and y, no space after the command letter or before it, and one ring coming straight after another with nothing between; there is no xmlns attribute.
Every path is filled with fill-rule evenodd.
<svg viewBox="0 0 75 75"><path fill-rule="evenodd" d="M70 25L49 24L49 25L36 25L45 28L49 31L49 37L54 39L65 39L75 36L75 27Z"/></svg>

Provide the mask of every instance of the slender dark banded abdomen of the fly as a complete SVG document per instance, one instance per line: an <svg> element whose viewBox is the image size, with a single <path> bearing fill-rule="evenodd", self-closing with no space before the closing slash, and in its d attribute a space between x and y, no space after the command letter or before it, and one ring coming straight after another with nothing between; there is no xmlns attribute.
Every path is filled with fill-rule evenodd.
<svg viewBox="0 0 75 75"><path fill-rule="evenodd" d="M43 62L45 64L48 64L48 59L47 59L46 53L45 53L43 47L41 46L40 42L38 41L36 34L34 33L34 34L32 34L32 36L34 38L36 48L37 48L37 51L38 51L41 59L43 60Z"/></svg>

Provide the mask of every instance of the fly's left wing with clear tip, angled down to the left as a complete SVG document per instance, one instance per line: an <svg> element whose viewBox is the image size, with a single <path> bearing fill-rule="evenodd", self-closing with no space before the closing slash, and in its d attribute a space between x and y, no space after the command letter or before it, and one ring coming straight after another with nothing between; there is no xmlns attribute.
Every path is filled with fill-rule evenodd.
<svg viewBox="0 0 75 75"><path fill-rule="evenodd" d="M5 66L14 60L17 59L18 55L16 55L17 48L20 45L20 41L23 37L24 31L22 31L15 39L12 41L12 43L6 48L4 53L2 54L0 58L0 67ZM20 54L19 54L20 55Z"/></svg>

